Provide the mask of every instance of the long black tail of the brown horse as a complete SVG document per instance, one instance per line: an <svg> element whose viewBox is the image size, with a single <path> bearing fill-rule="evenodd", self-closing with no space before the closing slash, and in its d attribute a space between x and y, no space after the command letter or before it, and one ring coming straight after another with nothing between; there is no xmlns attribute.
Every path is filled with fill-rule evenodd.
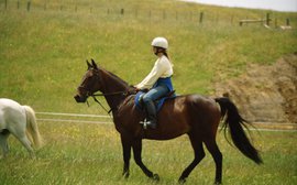
<svg viewBox="0 0 297 185"><path fill-rule="evenodd" d="M237 108L237 106L229 98L216 98L216 101L221 107L221 117L226 117L223 122L223 129L229 126L231 138L235 146L249 159L253 160L255 163L261 164L262 159L257 150L251 144L249 138L246 137L243 127L246 128L244 120ZM227 115L227 116L226 116ZM242 127L243 126L243 127ZM248 129L248 128L246 128Z"/></svg>

